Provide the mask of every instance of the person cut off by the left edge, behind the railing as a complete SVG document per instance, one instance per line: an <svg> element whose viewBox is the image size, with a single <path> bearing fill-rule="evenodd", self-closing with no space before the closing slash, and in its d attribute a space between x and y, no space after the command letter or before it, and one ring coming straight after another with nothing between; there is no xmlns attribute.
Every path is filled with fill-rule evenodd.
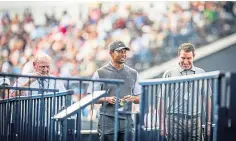
<svg viewBox="0 0 236 141"><path fill-rule="evenodd" d="M10 80L5 77L0 78L0 100L9 98L9 89L4 86L10 86Z"/></svg>

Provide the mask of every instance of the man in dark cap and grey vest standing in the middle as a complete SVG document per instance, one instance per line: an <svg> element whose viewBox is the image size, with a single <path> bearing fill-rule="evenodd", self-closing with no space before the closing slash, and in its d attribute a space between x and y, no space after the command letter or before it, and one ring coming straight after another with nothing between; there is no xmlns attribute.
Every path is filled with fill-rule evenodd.
<svg viewBox="0 0 236 141"><path fill-rule="evenodd" d="M141 86L138 84L138 72L125 64L127 51L129 51L122 41L115 41L110 45L109 54L111 61L99 68L93 75L92 79L121 79L124 84L120 86L119 97L116 97L116 88L114 86L103 86L101 83L90 83L87 93L92 93L95 90L108 90L108 96L103 97L97 101L102 104L100 107L100 116L98 119L98 134L101 141L114 140L114 121L115 121L115 103L119 102L119 106L123 111L131 111L132 102L139 103L139 94L141 94ZM125 105L123 104L125 103ZM127 121L128 120L128 121ZM125 135L125 128L128 127L128 135ZM131 140L132 119L129 115L118 115L118 140L123 141L126 137Z"/></svg>

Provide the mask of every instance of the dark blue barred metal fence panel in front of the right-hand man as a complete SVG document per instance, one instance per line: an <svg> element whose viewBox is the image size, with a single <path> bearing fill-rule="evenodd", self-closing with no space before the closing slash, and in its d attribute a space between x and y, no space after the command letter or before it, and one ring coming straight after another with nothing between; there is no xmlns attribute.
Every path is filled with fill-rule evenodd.
<svg viewBox="0 0 236 141"><path fill-rule="evenodd" d="M141 82L139 140L215 141L217 98L219 89L226 90L222 76L210 72Z"/></svg>

